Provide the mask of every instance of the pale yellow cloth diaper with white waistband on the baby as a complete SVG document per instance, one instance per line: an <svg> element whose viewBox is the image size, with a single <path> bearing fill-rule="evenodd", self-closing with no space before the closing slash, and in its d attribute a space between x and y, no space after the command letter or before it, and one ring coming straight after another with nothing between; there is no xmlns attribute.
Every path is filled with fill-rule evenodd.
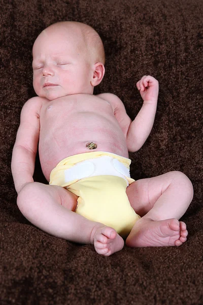
<svg viewBox="0 0 203 305"><path fill-rule="evenodd" d="M130 163L130 159L106 151L71 156L51 171L49 184L79 196L76 213L126 237L140 219L126 194L126 187L134 181Z"/></svg>

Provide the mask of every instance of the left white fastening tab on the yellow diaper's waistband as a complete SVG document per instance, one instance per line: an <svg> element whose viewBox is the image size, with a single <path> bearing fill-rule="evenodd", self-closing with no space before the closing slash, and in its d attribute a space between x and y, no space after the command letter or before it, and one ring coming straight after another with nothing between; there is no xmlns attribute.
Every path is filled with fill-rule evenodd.
<svg viewBox="0 0 203 305"><path fill-rule="evenodd" d="M89 161L82 161L75 166L64 170L65 182L82 179L90 176L94 171L94 164Z"/></svg>

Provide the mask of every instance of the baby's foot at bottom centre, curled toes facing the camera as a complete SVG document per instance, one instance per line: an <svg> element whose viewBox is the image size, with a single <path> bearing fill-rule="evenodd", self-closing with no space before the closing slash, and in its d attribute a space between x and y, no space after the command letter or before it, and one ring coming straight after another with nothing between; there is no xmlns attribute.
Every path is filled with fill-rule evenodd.
<svg viewBox="0 0 203 305"><path fill-rule="evenodd" d="M98 254L110 256L114 252L120 251L124 246L123 238L116 230L104 225L95 228L93 235L94 248Z"/></svg>

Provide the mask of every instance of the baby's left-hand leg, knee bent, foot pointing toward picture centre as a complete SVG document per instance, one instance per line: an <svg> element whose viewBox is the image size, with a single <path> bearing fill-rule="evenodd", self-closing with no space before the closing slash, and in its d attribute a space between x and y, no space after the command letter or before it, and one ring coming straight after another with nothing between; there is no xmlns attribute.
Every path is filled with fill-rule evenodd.
<svg viewBox="0 0 203 305"><path fill-rule="evenodd" d="M124 241L113 228L74 212L77 198L61 187L32 182L18 194L17 204L33 225L51 235L92 243L97 253L106 256L121 250Z"/></svg>

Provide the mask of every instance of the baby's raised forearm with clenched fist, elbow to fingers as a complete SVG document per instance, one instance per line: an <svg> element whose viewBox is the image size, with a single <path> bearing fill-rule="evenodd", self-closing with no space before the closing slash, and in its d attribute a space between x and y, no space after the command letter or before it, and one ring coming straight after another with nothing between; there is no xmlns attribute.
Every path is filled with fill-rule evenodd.
<svg viewBox="0 0 203 305"><path fill-rule="evenodd" d="M127 132L127 147L131 152L139 150L148 138L154 123L158 99L158 81L148 75L137 82L143 98L143 106Z"/></svg>

